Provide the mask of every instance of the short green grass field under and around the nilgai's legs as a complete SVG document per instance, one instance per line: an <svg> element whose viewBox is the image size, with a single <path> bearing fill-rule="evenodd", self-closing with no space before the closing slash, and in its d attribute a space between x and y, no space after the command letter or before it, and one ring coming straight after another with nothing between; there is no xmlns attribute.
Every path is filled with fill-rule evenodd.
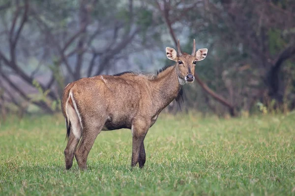
<svg viewBox="0 0 295 196"><path fill-rule="evenodd" d="M61 116L0 125L0 195L295 195L295 115L202 119L161 114L130 170L131 132L98 135L88 171L64 169Z"/></svg>

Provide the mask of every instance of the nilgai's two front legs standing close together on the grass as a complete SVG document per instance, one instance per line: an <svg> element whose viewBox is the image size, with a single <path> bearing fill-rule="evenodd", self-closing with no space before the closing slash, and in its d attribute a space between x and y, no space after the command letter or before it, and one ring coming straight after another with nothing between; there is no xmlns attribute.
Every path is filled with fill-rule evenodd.
<svg viewBox="0 0 295 196"><path fill-rule="evenodd" d="M146 152L144 147L144 140L148 133L150 122L136 119L132 122L132 158L131 167L135 167L138 162L140 168L145 165Z"/></svg>

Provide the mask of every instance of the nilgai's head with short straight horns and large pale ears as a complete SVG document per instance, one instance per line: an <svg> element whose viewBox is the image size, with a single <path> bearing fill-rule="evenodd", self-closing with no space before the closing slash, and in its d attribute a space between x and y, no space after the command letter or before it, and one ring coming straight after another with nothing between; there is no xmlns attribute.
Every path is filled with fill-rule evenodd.
<svg viewBox="0 0 295 196"><path fill-rule="evenodd" d="M179 39L177 41L177 52L173 48L166 48L166 55L170 60L176 61L177 76L186 82L193 82L195 79L195 65L197 61L202 61L207 55L208 49L198 49L194 40L192 54L181 53Z"/></svg>

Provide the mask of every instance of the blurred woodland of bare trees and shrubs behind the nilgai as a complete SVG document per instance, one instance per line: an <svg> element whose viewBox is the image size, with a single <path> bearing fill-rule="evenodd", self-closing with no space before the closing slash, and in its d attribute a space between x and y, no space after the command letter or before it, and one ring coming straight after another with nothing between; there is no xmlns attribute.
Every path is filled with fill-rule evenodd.
<svg viewBox="0 0 295 196"><path fill-rule="evenodd" d="M208 49L182 113L295 108L294 0L0 0L0 118L60 112L81 77L156 73L174 63L165 48L177 39L188 53L193 39Z"/></svg>

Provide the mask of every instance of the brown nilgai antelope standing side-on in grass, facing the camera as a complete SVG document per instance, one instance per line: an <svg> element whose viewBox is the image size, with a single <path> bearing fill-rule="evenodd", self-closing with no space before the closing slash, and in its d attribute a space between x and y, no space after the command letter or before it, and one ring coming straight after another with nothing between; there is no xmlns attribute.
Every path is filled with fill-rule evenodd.
<svg viewBox="0 0 295 196"><path fill-rule="evenodd" d="M205 59L207 49L192 54L166 48L166 55L176 61L156 75L125 72L81 78L68 84L61 108L67 127L68 143L64 150L65 168L72 167L74 155L80 169L87 169L87 157L102 130L131 129L131 167L146 162L144 139L159 113L181 92L182 85L194 81L197 61ZM82 138L82 139L81 139ZM80 141L81 139L81 141ZM79 147L78 143L80 141Z"/></svg>

